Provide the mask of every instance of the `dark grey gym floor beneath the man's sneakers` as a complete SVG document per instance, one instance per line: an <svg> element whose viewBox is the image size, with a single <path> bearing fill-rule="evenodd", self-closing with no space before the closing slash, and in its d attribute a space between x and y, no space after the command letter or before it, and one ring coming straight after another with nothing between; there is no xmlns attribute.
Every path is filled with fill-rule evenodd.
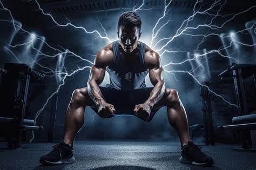
<svg viewBox="0 0 256 170"><path fill-rule="evenodd" d="M23 148L6 149L0 143L0 169L256 169L256 152L234 151L241 145L201 145L213 157L210 167L181 164L180 144L173 142L76 141L75 163L43 166L42 155L53 143L22 144ZM256 146L254 146L255 148Z"/></svg>

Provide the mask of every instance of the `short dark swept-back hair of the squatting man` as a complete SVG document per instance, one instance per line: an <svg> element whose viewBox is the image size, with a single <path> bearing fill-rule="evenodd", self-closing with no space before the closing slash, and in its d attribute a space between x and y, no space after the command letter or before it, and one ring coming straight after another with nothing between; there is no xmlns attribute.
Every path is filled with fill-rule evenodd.
<svg viewBox="0 0 256 170"><path fill-rule="evenodd" d="M125 27L138 26L139 30L142 26L142 19L140 19L137 12L127 11L122 13L118 20L117 31L119 31L120 26Z"/></svg>

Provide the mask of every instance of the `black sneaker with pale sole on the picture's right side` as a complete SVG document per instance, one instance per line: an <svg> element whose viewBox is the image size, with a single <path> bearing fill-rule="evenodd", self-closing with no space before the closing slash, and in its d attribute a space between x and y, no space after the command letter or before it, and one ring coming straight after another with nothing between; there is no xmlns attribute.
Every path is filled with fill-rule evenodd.
<svg viewBox="0 0 256 170"><path fill-rule="evenodd" d="M190 140L187 145L184 145L181 149L181 157L179 161L183 164L193 165L212 165L214 164L213 159L208 157L201 151L201 147L194 145Z"/></svg>

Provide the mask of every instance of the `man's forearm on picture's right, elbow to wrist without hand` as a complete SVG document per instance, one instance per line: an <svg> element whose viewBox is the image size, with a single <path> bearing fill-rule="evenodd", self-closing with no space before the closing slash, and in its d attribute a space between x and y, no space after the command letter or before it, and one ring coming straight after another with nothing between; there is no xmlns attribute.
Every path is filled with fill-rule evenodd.
<svg viewBox="0 0 256 170"><path fill-rule="evenodd" d="M150 105L152 108L158 101L164 96L165 83L164 81L158 81L150 93L150 97L145 101L145 104Z"/></svg>

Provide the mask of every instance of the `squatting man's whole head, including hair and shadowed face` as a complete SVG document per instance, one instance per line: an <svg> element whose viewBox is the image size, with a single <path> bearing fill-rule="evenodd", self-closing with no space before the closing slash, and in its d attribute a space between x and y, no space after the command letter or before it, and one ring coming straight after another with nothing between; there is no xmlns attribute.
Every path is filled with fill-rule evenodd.
<svg viewBox="0 0 256 170"><path fill-rule="evenodd" d="M117 35L120 40L120 45L125 52L131 53L136 49L139 37L142 34L140 27L142 20L136 12L124 12L118 21Z"/></svg>

